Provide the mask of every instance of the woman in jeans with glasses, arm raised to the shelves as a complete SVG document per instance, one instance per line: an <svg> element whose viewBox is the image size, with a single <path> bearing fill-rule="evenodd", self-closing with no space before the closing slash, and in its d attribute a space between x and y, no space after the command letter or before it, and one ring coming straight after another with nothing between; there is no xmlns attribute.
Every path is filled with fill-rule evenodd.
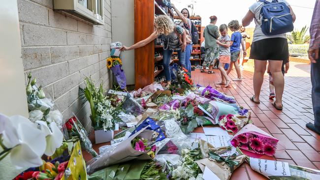
<svg viewBox="0 0 320 180"><path fill-rule="evenodd" d="M192 53L192 44L197 44L198 43L198 31L196 30L194 24L190 20L190 13L187 8L183 8L181 11L179 11L173 3L171 3L171 7L174 9L174 11L177 13L179 18L181 19L180 26L184 27L186 30L187 34L187 47L186 47L186 54L185 54L185 62L186 62L186 69L190 72L191 74L191 62L190 62L190 57ZM190 40L189 38L190 37Z"/></svg>

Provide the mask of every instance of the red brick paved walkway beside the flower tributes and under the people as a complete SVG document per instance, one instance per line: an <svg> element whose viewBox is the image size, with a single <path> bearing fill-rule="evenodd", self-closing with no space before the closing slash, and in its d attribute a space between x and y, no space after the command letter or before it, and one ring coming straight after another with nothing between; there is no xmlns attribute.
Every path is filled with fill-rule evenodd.
<svg viewBox="0 0 320 180"><path fill-rule="evenodd" d="M234 96L240 106L252 112L254 124L264 131L278 138L286 150L268 159L285 161L290 164L320 169L320 136L306 129L307 122L314 121L311 101L310 64L290 62L290 69L285 76L285 91L283 96L284 110L278 111L269 100L268 76L265 74L262 85L260 104L250 101L253 96L253 69L242 70L243 81L231 82L229 88L215 83L221 80L220 71L215 74L200 73L199 69L192 71L192 79L202 86L210 85L217 90ZM231 78L236 77L235 70L231 71ZM237 169L232 180L266 179L254 172L245 163Z"/></svg>

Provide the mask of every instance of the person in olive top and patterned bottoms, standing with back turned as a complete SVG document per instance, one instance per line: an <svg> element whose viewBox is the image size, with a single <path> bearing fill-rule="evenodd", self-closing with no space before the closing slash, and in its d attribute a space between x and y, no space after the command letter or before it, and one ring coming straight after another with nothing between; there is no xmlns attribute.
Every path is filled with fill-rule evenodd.
<svg viewBox="0 0 320 180"><path fill-rule="evenodd" d="M204 62L202 63L201 72L204 72L205 67L209 67L208 74L214 73L212 67L214 61L219 59L219 46L217 39L220 36L219 28L216 26L217 16L210 16L210 24L203 30L203 37L205 40L204 47L206 49Z"/></svg>

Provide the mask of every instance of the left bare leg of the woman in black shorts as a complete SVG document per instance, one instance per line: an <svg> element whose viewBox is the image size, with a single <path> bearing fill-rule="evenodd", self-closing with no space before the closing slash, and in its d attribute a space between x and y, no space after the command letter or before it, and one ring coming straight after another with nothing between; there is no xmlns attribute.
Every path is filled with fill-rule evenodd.
<svg viewBox="0 0 320 180"><path fill-rule="evenodd" d="M255 60L255 72L254 72L254 91L255 98L254 101L259 102L259 96L261 91L261 86L263 83L263 75L267 68L266 60ZM281 68L281 65L280 65Z"/></svg>

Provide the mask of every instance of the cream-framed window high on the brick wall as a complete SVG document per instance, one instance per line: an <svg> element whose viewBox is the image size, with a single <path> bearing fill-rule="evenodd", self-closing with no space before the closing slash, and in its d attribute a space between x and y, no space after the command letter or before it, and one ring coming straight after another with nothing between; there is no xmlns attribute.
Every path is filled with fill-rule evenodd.
<svg viewBox="0 0 320 180"><path fill-rule="evenodd" d="M103 0L54 0L54 9L64 10L96 25L104 25Z"/></svg>

